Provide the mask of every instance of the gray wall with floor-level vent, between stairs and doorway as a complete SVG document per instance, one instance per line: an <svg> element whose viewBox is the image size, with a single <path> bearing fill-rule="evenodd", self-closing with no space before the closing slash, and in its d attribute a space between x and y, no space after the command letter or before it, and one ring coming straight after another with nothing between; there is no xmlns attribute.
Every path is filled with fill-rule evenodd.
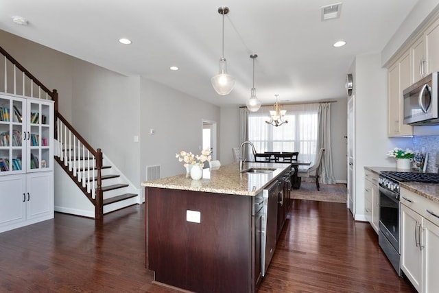
<svg viewBox="0 0 439 293"><path fill-rule="evenodd" d="M176 153L200 154L202 120L216 121L217 126L220 122L219 107L145 78L141 79L140 108L141 181L150 165L161 165L161 177L184 173ZM220 149L218 135L217 141ZM221 160L221 154L217 159Z"/></svg>

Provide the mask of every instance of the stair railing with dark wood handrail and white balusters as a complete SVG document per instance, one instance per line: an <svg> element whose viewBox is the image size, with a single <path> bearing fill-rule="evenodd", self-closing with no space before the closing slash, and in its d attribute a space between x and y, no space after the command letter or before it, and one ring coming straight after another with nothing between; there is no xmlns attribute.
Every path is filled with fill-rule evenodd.
<svg viewBox="0 0 439 293"><path fill-rule="evenodd" d="M64 169L68 168L69 171L73 172L73 176L68 172L69 176L95 206L95 219L101 219L104 215L101 176L103 156L101 150L99 148L94 150L58 112L58 92L56 89L53 91L47 89L1 46L0 54L4 57L3 62L0 62L0 74L1 67L3 67L4 93L54 100L54 137L57 141L57 161L61 166L64 165Z"/></svg>

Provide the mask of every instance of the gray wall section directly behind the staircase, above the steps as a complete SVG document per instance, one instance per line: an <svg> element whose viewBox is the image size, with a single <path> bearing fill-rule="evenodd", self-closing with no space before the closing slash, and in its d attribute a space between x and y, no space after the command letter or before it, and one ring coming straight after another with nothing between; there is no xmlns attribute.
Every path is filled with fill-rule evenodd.
<svg viewBox="0 0 439 293"><path fill-rule="evenodd" d="M72 81L71 124L140 187L139 143L134 142L140 128L139 78L75 59Z"/></svg>

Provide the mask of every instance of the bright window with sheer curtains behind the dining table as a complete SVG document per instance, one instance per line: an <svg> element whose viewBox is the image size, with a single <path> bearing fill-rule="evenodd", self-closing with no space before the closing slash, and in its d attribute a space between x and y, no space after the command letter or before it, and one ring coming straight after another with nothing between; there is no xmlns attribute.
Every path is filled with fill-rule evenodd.
<svg viewBox="0 0 439 293"><path fill-rule="evenodd" d="M248 139L257 152L299 152L299 159L313 161L317 151L318 108L287 105L288 123L275 127L265 123L268 108L248 115Z"/></svg>

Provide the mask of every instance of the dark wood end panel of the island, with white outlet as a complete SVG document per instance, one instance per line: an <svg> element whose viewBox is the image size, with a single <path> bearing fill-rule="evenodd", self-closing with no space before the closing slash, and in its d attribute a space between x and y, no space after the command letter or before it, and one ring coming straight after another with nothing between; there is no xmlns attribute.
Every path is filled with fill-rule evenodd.
<svg viewBox="0 0 439 293"><path fill-rule="evenodd" d="M252 196L145 191L146 261L155 281L193 292L255 292ZM187 211L200 212L200 222L189 222Z"/></svg>

